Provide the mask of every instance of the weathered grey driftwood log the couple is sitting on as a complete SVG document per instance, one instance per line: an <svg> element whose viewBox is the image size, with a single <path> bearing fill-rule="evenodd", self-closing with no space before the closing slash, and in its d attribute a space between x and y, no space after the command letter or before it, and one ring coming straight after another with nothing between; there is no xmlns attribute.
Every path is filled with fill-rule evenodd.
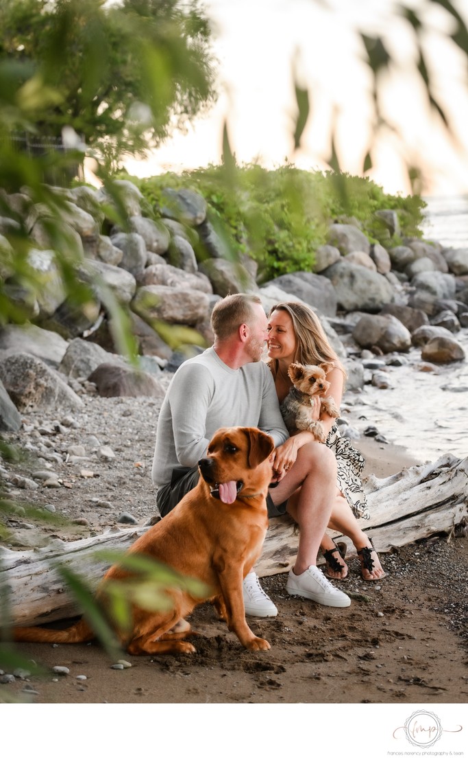
<svg viewBox="0 0 468 760"><path fill-rule="evenodd" d="M451 534L468 515L468 458L445 454L435 463L405 468L391 477L365 482L372 518L361 521L378 552L413 543L433 534ZM54 540L42 549L14 552L0 548L0 594L8 599L17 625L41 624L80 613L77 602L55 566L65 565L96 587L106 565L96 549L125 549L147 527L108 530L97 537L65 543ZM339 534L332 534L338 537ZM294 563L297 527L290 518L274 518L256 572L260 577L286 572ZM344 537L348 556L356 551ZM5 604L0 606L4 610Z"/></svg>

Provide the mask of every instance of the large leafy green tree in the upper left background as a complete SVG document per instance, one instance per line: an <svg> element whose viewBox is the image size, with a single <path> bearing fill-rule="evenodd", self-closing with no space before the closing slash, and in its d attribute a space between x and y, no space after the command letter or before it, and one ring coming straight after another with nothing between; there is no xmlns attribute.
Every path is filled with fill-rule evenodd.
<svg viewBox="0 0 468 760"><path fill-rule="evenodd" d="M72 128L111 169L214 94L209 25L196 0L4 0L0 30L10 128L55 138Z"/></svg>

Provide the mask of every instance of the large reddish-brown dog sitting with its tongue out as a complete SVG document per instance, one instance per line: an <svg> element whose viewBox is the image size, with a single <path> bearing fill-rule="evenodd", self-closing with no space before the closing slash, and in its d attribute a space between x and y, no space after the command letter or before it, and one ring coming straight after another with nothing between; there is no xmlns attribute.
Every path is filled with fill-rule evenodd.
<svg viewBox="0 0 468 760"><path fill-rule="evenodd" d="M174 607L165 612L134 605L130 633L113 625L130 654L194 652L193 645L183 641L190 632L184 618L207 598L244 647L270 648L269 642L255 636L247 625L242 581L260 556L268 527L265 498L272 479L269 457L273 449L271 436L256 428L218 430L206 458L198 463L201 477L197 486L130 547L129 553L165 562L182 575L199 578L211 590L203 598L171 590ZM129 576L119 565L108 570L97 594L104 608L106 581ZM75 644L93 638L93 630L83 618L64 631L14 629L16 641Z"/></svg>

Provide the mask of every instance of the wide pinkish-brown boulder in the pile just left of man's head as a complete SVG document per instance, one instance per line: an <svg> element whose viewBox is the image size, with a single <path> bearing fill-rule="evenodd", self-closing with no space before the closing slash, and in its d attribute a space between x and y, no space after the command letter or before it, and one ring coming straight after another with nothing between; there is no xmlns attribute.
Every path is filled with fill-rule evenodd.
<svg viewBox="0 0 468 760"><path fill-rule="evenodd" d="M207 317L209 298L200 290L146 285L138 288L131 308L149 325L153 320L162 320L171 325L193 326Z"/></svg>

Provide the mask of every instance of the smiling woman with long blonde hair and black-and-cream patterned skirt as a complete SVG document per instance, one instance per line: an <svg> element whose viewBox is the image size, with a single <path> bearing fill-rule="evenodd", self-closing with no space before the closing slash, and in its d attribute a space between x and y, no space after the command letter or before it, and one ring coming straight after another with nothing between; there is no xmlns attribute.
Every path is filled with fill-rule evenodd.
<svg viewBox="0 0 468 760"><path fill-rule="evenodd" d="M338 356L328 343L325 332L312 309L303 303L286 302L273 306L269 313L268 325L269 367L275 380L276 393L281 402L291 388L287 368L293 362L301 364L333 363L333 369L327 374L330 382L328 395L335 399L340 407L346 372ZM319 399L313 402L316 420L320 420L327 435L326 445L335 452L338 464L338 483L335 503L331 511L328 527L349 536L356 546L361 562L361 572L365 581L378 581L385 572L379 562L377 553L369 537L360 529L356 518L369 519L369 508L363 493L360 475L364 460L349 439L341 437L335 419L327 413L320 413ZM296 461L297 451L313 439L308 431L297 432L280 446L275 457L275 468L286 470ZM294 497L291 497L290 501ZM347 578L348 568L335 541L325 534L320 545L325 557L325 575L329 578Z"/></svg>

